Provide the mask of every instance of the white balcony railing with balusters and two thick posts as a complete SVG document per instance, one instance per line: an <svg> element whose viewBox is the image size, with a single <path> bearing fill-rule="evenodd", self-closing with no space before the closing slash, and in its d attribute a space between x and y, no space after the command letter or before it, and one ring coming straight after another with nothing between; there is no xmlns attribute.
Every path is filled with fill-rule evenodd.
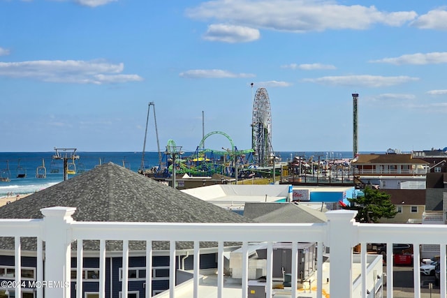
<svg viewBox="0 0 447 298"><path fill-rule="evenodd" d="M242 297L248 297L248 244L251 241L268 243L266 297L272 297L272 247L276 241L292 243L291 297L297 297L298 242L316 242L318 248L330 247L330 285L332 298L353 297L352 248L360 244L362 297L367 295L367 243L387 244L386 297L393 297L393 243L413 244L413 258L420 260L420 244L447 245L447 225L404 225L404 224L365 224L356 223L355 211L337 210L326 213L327 223L286 224L283 223L118 223L118 222L76 222L71 217L75 208L51 207L41 209L43 219L0 219L0 237L15 237L15 272L21 267L21 237L37 238L36 280L47 285L36 288L37 298L68 298L71 283L71 243L77 240L77 278L76 297L83 297L82 260L83 240L99 240L99 297L105 298L105 241L122 240L122 297L127 297L129 269L129 241L147 242L146 268L152 268L152 241L170 242L170 297L175 297L176 241L193 242L193 297L199 292L199 241L218 243L217 292L223 297L223 243L237 241L242 243ZM45 241L45 251L43 251ZM323 297L323 251L317 250L317 290L316 297ZM45 263L43 257L45 255ZM446 297L446 250L440 252L441 297ZM43 276L43 265L45 276ZM420 298L420 263L413 265L414 297ZM151 270L147 270L145 297L152 295ZM52 286L49 286L52 283ZM20 274L15 274L15 284L21 284ZM57 285L57 286L54 286ZM13 290L13 289L10 289ZM15 289L15 297L21 297L21 289Z"/></svg>

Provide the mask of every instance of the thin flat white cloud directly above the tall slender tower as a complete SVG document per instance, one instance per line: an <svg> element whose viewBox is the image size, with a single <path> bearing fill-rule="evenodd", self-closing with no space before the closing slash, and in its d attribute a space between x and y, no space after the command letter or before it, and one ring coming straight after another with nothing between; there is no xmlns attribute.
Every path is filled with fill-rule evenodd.
<svg viewBox="0 0 447 298"><path fill-rule="evenodd" d="M383 77L381 75L345 75L304 79L303 82L353 87L388 87L419 80L418 77Z"/></svg>

